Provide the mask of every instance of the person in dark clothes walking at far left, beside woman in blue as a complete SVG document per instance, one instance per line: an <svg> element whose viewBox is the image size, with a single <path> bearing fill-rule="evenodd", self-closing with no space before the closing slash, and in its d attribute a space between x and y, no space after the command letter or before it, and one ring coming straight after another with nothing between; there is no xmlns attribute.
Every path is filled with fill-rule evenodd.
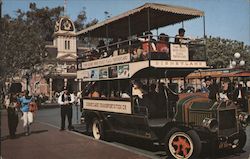
<svg viewBox="0 0 250 159"><path fill-rule="evenodd" d="M18 125L18 103L17 103L17 96L14 93L11 93L7 97L8 99L5 101L5 105L7 108L8 113L8 128L10 138L16 137L16 128Z"/></svg>

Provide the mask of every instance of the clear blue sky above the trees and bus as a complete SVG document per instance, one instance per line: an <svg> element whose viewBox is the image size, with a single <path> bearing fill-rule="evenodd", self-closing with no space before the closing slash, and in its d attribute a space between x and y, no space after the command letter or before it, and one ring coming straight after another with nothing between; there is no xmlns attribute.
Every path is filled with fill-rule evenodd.
<svg viewBox="0 0 250 159"><path fill-rule="evenodd" d="M27 11L29 3L35 2L38 8L63 6L64 0L2 0L2 14L15 16L15 11ZM242 41L250 45L250 0L67 0L67 15L75 20L85 8L87 21L105 19L105 11L116 16L144 3L162 3L195 8L205 12L205 34L207 36ZM174 36L181 24L159 29ZM203 19L184 23L186 35L190 37L203 36Z"/></svg>

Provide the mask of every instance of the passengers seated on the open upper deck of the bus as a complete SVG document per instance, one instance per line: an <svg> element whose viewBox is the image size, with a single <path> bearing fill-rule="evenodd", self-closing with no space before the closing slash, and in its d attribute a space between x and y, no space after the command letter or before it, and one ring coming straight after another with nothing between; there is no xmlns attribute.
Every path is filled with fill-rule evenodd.
<svg viewBox="0 0 250 159"><path fill-rule="evenodd" d="M170 58L170 36L161 33L154 38L152 32L147 31L143 35L137 35L132 39L117 38L111 42L103 39L99 40L96 49L93 49L86 58L87 60L96 60L106 57L116 56L124 53L131 53L132 61L149 59L169 59ZM185 29L180 28L178 34L173 37L171 43L185 44L190 42L190 38L185 37Z"/></svg>

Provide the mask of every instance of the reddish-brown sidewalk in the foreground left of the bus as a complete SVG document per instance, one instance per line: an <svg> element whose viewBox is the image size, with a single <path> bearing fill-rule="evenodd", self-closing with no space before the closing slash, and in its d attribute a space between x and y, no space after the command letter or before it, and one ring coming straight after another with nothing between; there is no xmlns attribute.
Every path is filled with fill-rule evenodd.
<svg viewBox="0 0 250 159"><path fill-rule="evenodd" d="M25 136L19 121L17 138L8 136L7 112L1 110L1 153L3 159L147 159L112 144L58 128L45 123L31 125L31 134Z"/></svg>

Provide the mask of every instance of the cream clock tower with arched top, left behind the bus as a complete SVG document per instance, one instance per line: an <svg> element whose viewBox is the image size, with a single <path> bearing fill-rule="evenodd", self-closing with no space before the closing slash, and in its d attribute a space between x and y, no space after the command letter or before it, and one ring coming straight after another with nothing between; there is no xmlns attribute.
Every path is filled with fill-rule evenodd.
<svg viewBox="0 0 250 159"><path fill-rule="evenodd" d="M76 80L77 36L74 23L67 16L56 21L53 35L53 45L47 45L51 60L52 72L49 78L51 92L60 92L63 87L70 86L78 90ZM55 62L56 61L56 62Z"/></svg>

